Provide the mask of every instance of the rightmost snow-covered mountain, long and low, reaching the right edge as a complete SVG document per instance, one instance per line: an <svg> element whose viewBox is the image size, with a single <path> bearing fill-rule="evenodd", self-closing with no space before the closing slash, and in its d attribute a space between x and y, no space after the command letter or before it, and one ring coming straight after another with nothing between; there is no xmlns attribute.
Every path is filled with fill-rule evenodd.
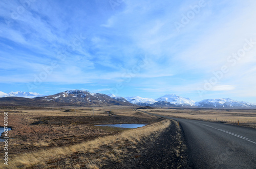
<svg viewBox="0 0 256 169"><path fill-rule="evenodd" d="M207 108L256 108L255 105L248 102L239 102L232 99L206 99L196 102L197 107Z"/></svg>

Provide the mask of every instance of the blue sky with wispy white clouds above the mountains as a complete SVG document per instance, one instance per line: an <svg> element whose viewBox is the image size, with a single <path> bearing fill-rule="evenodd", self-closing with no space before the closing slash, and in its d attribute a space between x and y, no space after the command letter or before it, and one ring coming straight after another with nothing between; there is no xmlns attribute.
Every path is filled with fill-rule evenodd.
<svg viewBox="0 0 256 169"><path fill-rule="evenodd" d="M0 91L256 103L253 0L0 1Z"/></svg>

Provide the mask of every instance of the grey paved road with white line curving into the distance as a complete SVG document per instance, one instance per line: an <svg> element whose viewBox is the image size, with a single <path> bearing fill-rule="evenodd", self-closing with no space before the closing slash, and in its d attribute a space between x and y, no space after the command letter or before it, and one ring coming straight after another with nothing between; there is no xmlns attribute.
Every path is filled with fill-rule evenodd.
<svg viewBox="0 0 256 169"><path fill-rule="evenodd" d="M256 129L161 117L179 120L187 141L192 167L256 168Z"/></svg>

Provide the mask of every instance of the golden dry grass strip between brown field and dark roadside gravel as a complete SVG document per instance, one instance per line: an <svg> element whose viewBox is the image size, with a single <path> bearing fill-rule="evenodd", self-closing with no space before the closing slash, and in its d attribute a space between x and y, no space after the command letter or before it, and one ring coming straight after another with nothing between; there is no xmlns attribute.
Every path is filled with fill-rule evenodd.
<svg viewBox="0 0 256 169"><path fill-rule="evenodd" d="M20 154L9 159L7 168L98 168L106 159L120 162L127 148L143 138L156 138L170 125L170 120L150 124L142 128L127 130L117 135L98 137L91 141L68 147L52 148L46 151Z"/></svg>

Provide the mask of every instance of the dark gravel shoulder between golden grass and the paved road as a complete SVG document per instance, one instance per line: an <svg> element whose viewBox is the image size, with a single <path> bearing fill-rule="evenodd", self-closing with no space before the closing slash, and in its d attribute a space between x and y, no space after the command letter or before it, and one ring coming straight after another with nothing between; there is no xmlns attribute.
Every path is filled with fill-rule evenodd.
<svg viewBox="0 0 256 169"><path fill-rule="evenodd" d="M140 153L130 152L129 157L121 163L102 168L190 168L183 134L174 123L156 140L148 140L137 148L141 149Z"/></svg>

